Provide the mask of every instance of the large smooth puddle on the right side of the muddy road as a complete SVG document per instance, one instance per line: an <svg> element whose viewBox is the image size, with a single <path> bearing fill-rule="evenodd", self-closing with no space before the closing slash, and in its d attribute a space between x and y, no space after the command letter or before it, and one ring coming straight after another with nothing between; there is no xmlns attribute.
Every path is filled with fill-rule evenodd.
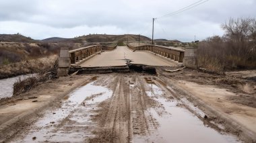
<svg viewBox="0 0 256 143"><path fill-rule="evenodd" d="M146 113L153 115L159 126L157 129L150 129L148 136L134 135L133 142L239 142L234 136L217 132L204 125L197 116L179 106L181 101L164 98L164 91L154 83L148 84L148 87L150 90L146 91L146 94L158 101L164 111L159 113L160 109L157 107L147 109ZM187 104L187 101L185 103Z"/></svg>

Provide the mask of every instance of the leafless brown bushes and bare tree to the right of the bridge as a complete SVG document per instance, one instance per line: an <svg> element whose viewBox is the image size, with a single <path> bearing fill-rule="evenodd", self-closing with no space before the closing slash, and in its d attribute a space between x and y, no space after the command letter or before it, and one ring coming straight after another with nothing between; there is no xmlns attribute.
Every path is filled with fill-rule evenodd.
<svg viewBox="0 0 256 143"><path fill-rule="evenodd" d="M256 68L256 20L230 19L222 28L224 36L212 36L199 42L199 66L214 71Z"/></svg>

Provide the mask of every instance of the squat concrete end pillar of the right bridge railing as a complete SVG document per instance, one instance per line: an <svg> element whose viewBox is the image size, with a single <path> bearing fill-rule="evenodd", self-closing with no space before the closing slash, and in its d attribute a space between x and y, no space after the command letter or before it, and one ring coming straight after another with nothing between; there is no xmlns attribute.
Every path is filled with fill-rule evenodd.
<svg viewBox="0 0 256 143"><path fill-rule="evenodd" d="M197 69L197 48L189 47L185 49L183 66Z"/></svg>

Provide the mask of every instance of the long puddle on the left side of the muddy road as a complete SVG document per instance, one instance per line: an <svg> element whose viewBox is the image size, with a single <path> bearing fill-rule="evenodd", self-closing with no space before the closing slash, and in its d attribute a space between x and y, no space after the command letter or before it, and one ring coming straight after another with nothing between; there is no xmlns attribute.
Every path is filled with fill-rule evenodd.
<svg viewBox="0 0 256 143"><path fill-rule="evenodd" d="M88 83L70 93L61 107L46 111L22 139L13 142L84 142L92 137L90 129L96 126L91 121L92 110L113 95L108 88L93 84ZM36 140L32 140L34 137Z"/></svg>

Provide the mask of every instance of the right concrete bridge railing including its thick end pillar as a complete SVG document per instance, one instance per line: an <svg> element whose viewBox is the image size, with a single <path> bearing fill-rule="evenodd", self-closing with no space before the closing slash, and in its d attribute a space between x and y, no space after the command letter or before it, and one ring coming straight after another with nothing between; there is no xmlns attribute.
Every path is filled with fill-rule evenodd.
<svg viewBox="0 0 256 143"><path fill-rule="evenodd" d="M183 66L197 68L197 49L193 47L186 48L185 50L158 45L131 46L127 44L127 47L132 50L148 50L174 61L183 62Z"/></svg>

